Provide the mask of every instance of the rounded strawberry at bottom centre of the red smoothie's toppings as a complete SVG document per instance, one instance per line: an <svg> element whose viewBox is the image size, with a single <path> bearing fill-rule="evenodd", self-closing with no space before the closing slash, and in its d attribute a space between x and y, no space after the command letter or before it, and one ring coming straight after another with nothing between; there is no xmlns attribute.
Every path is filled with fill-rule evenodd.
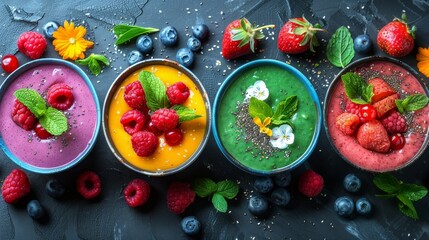
<svg viewBox="0 0 429 240"><path fill-rule="evenodd" d="M362 124L356 134L359 144L375 152L386 153L390 149L389 135L378 120Z"/></svg>

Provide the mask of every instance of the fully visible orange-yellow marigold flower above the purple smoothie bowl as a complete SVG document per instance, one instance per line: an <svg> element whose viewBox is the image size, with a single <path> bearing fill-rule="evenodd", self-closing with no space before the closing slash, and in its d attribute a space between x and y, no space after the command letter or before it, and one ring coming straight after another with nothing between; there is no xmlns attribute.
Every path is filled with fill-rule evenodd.
<svg viewBox="0 0 429 240"><path fill-rule="evenodd" d="M94 43L84 39L86 28L75 27L73 22L64 21L64 27L60 26L54 33L55 38L52 44L63 59L83 59L87 48L94 46Z"/></svg>

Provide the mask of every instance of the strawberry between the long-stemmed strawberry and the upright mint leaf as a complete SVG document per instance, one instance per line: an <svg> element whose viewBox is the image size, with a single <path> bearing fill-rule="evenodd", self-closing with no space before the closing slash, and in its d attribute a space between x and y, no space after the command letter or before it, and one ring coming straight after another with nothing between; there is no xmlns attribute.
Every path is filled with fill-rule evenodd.
<svg viewBox="0 0 429 240"><path fill-rule="evenodd" d="M311 24L304 16L289 19L280 29L277 39L277 47L280 51L288 54L314 52L314 47L319 46L316 32L326 31L319 24Z"/></svg>

